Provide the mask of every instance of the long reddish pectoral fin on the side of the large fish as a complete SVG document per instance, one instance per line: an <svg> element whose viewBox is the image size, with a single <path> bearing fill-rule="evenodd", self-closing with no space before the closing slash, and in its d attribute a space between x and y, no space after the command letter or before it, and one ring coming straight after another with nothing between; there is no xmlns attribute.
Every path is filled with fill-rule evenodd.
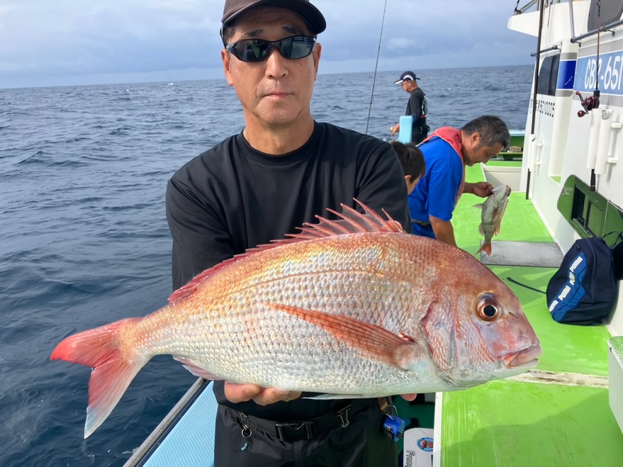
<svg viewBox="0 0 623 467"><path fill-rule="evenodd" d="M270 306L319 326L333 334L338 341L358 349L368 359L403 370L410 369L421 353L420 347L414 342L407 341L381 326L365 323L345 314L329 314L277 303L271 303Z"/></svg>

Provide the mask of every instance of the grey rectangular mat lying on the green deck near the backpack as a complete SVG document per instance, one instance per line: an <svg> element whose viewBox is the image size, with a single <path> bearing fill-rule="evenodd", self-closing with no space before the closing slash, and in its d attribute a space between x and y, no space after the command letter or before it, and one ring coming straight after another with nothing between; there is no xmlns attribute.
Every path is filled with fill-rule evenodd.
<svg viewBox="0 0 623 467"><path fill-rule="evenodd" d="M556 243L494 241L491 255L480 253L480 261L496 266L558 268L563 262L563 252Z"/></svg>

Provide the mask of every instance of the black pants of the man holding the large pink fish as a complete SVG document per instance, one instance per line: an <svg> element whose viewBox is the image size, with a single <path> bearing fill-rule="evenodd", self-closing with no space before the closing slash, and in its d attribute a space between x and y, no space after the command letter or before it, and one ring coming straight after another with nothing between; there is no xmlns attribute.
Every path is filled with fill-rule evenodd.
<svg viewBox="0 0 623 467"><path fill-rule="evenodd" d="M288 443L260 430L249 438L233 412L219 405L214 467L394 467L397 445L381 432L384 414L377 403L349 415L350 425Z"/></svg>

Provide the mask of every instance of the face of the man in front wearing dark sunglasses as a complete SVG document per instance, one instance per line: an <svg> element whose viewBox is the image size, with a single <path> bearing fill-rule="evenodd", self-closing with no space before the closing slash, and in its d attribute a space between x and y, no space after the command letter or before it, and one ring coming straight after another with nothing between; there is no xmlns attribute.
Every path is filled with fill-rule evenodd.
<svg viewBox="0 0 623 467"><path fill-rule="evenodd" d="M230 44L240 39L279 40L290 35L312 35L309 26L292 11L259 7L236 20ZM287 126L310 115L313 83L318 74L320 44L302 59L284 59L273 49L263 62L242 62L221 52L227 83L244 108L245 120L273 127Z"/></svg>

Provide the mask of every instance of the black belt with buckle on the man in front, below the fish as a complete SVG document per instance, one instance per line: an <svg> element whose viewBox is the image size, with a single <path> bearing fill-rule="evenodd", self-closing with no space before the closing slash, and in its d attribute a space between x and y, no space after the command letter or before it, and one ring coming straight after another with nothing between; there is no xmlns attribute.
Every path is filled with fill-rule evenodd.
<svg viewBox="0 0 623 467"><path fill-rule="evenodd" d="M349 414L360 412L364 408L371 406L373 404L371 404L369 399L353 400L334 412L312 418L312 420L293 420L290 422L275 422L274 420L246 415L228 408L232 411L236 422L242 427L242 436L244 438L249 438L253 434L253 430L260 430L275 436L280 441L292 443L293 441L312 440L318 433L327 432L335 428L346 428L350 425L348 420Z"/></svg>

